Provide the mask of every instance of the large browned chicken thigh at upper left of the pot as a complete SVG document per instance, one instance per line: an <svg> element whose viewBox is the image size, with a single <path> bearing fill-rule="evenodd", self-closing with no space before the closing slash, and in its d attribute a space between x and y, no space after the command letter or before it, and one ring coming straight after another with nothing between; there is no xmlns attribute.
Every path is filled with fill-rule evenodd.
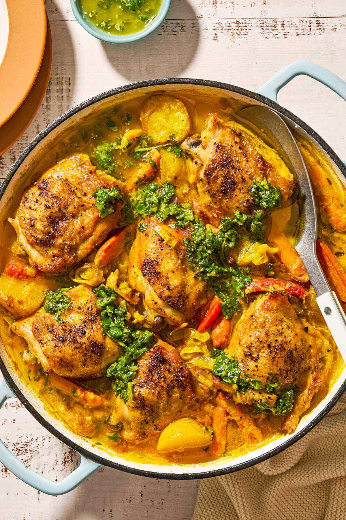
<svg viewBox="0 0 346 520"><path fill-rule="evenodd" d="M21 248L45 272L64 271L87 256L120 220L122 203L100 218L93 193L119 188L119 181L95 171L88 155L60 161L27 188L13 219Z"/></svg>

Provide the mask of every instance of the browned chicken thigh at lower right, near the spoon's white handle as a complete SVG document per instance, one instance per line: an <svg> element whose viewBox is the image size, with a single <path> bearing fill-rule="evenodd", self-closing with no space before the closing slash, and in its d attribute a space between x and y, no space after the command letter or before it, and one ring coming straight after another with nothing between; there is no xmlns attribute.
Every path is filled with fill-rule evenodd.
<svg viewBox="0 0 346 520"><path fill-rule="evenodd" d="M238 360L243 374L264 384L278 378L279 388L285 388L297 385L312 366L316 344L287 296L274 292L258 296L244 311L227 351Z"/></svg>

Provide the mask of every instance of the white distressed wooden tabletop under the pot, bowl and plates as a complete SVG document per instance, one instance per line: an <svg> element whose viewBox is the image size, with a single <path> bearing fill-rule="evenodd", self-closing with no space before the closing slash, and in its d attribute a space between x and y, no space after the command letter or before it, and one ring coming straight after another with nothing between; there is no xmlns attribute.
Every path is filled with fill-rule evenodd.
<svg viewBox="0 0 346 520"><path fill-rule="evenodd" d="M295 60L310 60L346 80L346 3L339 0L172 0L152 35L123 46L95 40L75 21L68 0L46 0L53 38L47 94L34 122L0 158L0 178L50 121L95 94L137 80L197 77L255 90ZM346 104L299 77L279 101L346 159ZM1 132L1 128L0 128ZM7 446L34 470L60 479L77 464L15 400L0 412ZM1 466L1 465L0 465ZM0 471L0 520L185 520L198 482L175 482L101 469L67 496L48 497Z"/></svg>

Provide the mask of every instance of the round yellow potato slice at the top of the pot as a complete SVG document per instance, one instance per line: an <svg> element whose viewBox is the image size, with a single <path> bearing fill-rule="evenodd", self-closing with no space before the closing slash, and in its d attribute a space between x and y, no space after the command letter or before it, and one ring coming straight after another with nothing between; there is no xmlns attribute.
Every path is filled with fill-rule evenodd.
<svg viewBox="0 0 346 520"><path fill-rule="evenodd" d="M172 96L151 96L141 108L140 118L145 133L155 142L181 142L190 132L190 117L184 103Z"/></svg>

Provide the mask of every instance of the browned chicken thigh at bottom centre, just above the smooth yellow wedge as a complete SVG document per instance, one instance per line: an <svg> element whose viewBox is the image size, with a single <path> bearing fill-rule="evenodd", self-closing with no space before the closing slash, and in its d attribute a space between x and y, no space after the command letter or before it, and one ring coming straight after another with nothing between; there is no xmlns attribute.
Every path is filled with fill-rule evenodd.
<svg viewBox="0 0 346 520"><path fill-rule="evenodd" d="M168 343L158 341L137 366L133 400L125 404L118 397L109 421L115 428L122 423L122 437L132 442L156 435L195 400L191 373Z"/></svg>

